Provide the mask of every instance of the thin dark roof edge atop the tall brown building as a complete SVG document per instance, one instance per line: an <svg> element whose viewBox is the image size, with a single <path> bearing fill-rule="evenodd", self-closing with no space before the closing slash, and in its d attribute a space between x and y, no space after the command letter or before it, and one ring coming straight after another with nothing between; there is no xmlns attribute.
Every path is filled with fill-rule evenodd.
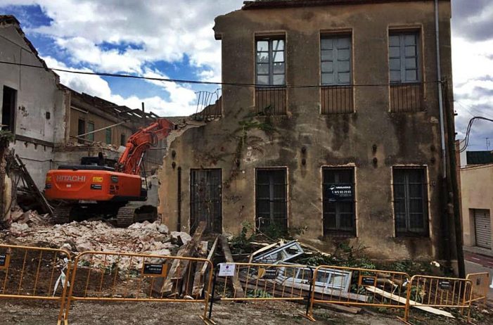
<svg viewBox="0 0 493 325"><path fill-rule="evenodd" d="M410 2L418 0L257 0L243 1L242 10L262 8L288 8L306 6L328 6L341 4L382 4L387 2ZM433 1L433 0L419 0ZM450 1L450 0L447 0Z"/></svg>

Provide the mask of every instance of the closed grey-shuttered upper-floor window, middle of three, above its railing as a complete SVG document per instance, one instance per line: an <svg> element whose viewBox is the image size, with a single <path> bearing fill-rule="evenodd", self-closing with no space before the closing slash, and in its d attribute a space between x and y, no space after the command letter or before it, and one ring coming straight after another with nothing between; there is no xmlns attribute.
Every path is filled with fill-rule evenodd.
<svg viewBox="0 0 493 325"><path fill-rule="evenodd" d="M351 83L351 37L322 37L320 41L322 85Z"/></svg>

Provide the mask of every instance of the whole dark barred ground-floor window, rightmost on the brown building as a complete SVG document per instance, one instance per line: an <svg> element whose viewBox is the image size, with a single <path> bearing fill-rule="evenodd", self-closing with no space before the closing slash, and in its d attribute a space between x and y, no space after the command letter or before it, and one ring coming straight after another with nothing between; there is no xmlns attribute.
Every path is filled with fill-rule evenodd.
<svg viewBox="0 0 493 325"><path fill-rule="evenodd" d="M425 168L393 169L397 236L428 235L428 191Z"/></svg>

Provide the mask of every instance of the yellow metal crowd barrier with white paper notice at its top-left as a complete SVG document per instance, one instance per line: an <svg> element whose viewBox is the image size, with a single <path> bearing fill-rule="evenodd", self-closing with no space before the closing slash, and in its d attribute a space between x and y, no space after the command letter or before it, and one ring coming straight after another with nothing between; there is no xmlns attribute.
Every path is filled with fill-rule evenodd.
<svg viewBox="0 0 493 325"><path fill-rule="evenodd" d="M313 269L306 265L222 263L212 284L215 297L210 303L209 318L215 300L226 301L307 301L312 293Z"/></svg>

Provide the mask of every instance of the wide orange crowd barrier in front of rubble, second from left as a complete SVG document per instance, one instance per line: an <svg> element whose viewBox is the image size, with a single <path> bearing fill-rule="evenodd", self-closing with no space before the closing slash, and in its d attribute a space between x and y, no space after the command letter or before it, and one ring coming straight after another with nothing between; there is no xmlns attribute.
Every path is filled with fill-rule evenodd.
<svg viewBox="0 0 493 325"><path fill-rule="evenodd" d="M188 302L203 303L200 318L209 323L212 272L202 258L84 252L74 261L65 319L75 301Z"/></svg>

